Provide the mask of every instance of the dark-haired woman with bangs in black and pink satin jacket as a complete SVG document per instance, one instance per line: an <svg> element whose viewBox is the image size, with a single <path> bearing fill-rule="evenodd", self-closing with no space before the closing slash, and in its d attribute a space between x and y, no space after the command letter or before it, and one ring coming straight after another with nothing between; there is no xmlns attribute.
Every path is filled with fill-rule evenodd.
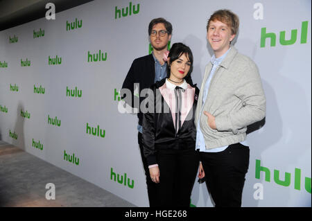
<svg viewBox="0 0 312 221"><path fill-rule="evenodd" d="M144 155L158 184L158 206L188 207L199 163L194 124L199 89L190 80L193 54L188 46L173 44L167 63L167 78L156 82L146 98Z"/></svg>

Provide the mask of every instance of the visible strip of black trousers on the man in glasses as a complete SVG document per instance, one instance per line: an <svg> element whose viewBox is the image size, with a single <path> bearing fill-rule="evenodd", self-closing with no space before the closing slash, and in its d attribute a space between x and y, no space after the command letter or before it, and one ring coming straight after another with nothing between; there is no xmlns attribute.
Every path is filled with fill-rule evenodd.
<svg viewBox="0 0 312 221"><path fill-rule="evenodd" d="M150 203L150 207L155 207L158 205L157 202L157 184L155 184L152 179L150 179L150 170L148 169L148 163L146 161L146 157L144 157L143 152L143 144L142 144L142 134L139 132L138 134L138 143L140 147L141 152L141 159L143 162L145 175L146 175L146 185L147 185L147 191L148 191L148 201Z"/></svg>

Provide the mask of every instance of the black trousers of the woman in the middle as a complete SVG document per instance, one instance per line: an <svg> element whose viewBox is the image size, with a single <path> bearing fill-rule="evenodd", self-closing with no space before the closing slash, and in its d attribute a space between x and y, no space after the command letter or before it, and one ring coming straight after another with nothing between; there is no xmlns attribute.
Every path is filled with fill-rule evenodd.
<svg viewBox="0 0 312 221"><path fill-rule="evenodd" d="M158 150L159 206L189 207L198 172L199 154L191 150Z"/></svg>

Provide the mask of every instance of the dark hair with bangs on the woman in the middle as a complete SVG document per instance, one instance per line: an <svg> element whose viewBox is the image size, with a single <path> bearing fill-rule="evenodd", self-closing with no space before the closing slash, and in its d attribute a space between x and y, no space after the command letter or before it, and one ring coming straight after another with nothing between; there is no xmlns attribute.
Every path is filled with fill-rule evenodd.
<svg viewBox="0 0 312 221"><path fill-rule="evenodd" d="M170 60L169 60L169 64L167 65L167 78L170 77L170 73L171 73L170 66L172 62L180 58L181 55L184 53L187 55L187 57L189 57L189 62L191 62L189 73L187 73L187 76L185 76L184 78L185 79L191 78L191 72L193 71L193 53L191 51L191 48L189 48L189 46L186 46L185 44L180 43L180 42L173 44L169 51L168 58L170 58Z"/></svg>

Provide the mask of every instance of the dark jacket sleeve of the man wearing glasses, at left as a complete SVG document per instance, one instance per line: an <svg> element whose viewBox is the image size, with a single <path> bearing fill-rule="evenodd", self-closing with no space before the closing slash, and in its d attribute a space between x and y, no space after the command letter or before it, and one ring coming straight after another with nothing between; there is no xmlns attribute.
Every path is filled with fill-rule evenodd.
<svg viewBox="0 0 312 221"><path fill-rule="evenodd" d="M120 91L121 99L125 100L125 103L131 107L135 107L135 104L139 102L139 97L135 96L136 76L136 61L133 61Z"/></svg>

